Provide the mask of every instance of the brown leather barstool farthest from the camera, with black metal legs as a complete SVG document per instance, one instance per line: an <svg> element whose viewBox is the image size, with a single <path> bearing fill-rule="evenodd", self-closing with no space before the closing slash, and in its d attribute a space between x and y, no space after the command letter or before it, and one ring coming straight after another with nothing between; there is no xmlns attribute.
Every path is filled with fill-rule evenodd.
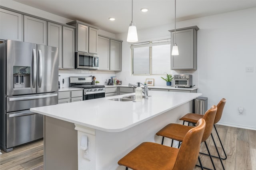
<svg viewBox="0 0 256 170"><path fill-rule="evenodd" d="M221 118L221 116L222 116L222 113L223 113L223 109L224 109L225 104L226 104L226 99L222 98L222 99L220 100L220 102L218 103L218 105L217 105L217 112L216 112L216 116L215 116L215 119L214 119L214 125L213 125L213 126L214 126L214 129L215 129L215 131L216 131L216 134L217 134L217 136L218 136L218 139L219 139L219 141L220 141L220 145L221 145L222 150L223 150L224 155L225 155L224 158L221 158L221 159L223 159L223 160L225 160L225 159L227 158L227 155L226 155L226 152L225 152L225 150L224 150L223 144L222 144L222 142L221 142L221 140L220 140L220 136L219 136L219 134L218 134L218 131L217 131L217 129L216 129L215 124L220 121L220 118ZM186 114L184 117L180 118L180 120L183 121L183 125L184 125L185 122L188 122L188 123L196 123L196 122L197 122L199 119L201 119L203 116L204 116L204 115L199 115L199 114L195 114L195 113L188 113L188 114ZM214 142L214 144L215 144L214 138L213 138L213 142ZM202 153L202 154L204 154L204 153ZM207 154L206 154L206 155L207 155ZM219 158L218 156L212 156L212 157Z"/></svg>

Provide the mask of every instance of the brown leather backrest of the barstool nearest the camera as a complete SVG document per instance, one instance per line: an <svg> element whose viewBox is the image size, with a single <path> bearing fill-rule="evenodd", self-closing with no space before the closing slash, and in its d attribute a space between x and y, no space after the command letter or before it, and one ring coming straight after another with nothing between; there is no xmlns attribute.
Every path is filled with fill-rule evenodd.
<svg viewBox="0 0 256 170"><path fill-rule="evenodd" d="M199 119L196 127L190 129L180 146L173 170L193 170L198 159L200 144L206 122L204 119Z"/></svg>

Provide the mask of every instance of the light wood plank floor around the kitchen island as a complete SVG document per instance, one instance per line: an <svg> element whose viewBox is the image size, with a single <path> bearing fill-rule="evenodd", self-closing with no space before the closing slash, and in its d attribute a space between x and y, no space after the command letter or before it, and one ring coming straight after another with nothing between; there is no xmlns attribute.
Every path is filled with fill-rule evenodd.
<svg viewBox="0 0 256 170"><path fill-rule="evenodd" d="M220 138L224 144L228 158L223 160L226 170L256 170L256 130L226 127L216 125ZM221 150L220 143L215 130L212 131L218 149ZM207 140L210 152L217 155L212 139ZM4 152L0 155L0 170L31 170L43 164L43 141L35 142L27 146L14 149L12 152ZM204 144L201 152L206 153ZM222 152L221 152L222 153ZM224 154L222 153L222 156ZM208 168L213 168L210 158L200 154L202 164ZM217 170L222 170L220 161L213 158ZM200 170L196 167L194 170Z"/></svg>

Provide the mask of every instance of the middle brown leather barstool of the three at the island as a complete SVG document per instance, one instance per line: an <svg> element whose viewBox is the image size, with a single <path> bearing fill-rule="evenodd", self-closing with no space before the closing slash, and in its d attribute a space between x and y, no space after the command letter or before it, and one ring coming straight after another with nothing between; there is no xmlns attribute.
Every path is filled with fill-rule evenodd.
<svg viewBox="0 0 256 170"><path fill-rule="evenodd" d="M204 117L203 119L205 120L206 122L206 127L205 127L205 130L204 130L204 134L203 134L203 137L202 137L202 141L201 142L204 142L205 146L206 146L206 149L208 151L208 154L209 154L209 157L212 161L212 166L214 168L214 170L216 170L215 166L214 166L214 162L212 160L212 156L210 154L210 151L209 151L209 148L208 148L208 145L206 143L206 139L208 139L208 137L210 136L211 132L212 132L212 127L213 127L213 123L214 123L214 118L215 118L215 115L216 115L216 111L217 111L217 107L215 105L213 105L208 111L206 111L206 113L204 114ZM184 140L184 136L186 134L186 132L188 132L188 130L190 130L191 128L193 127L189 127L189 126L185 126L185 125L180 125L180 124L175 124L175 123L171 123L171 124L168 124L166 125L164 128L162 128L161 130L159 130L156 135L158 136L163 136L162 137L162 144L164 142L164 137L167 137L167 138L170 138L172 139L172 143L173 143L173 140L177 140L179 142L182 142ZM172 146L172 144L171 144ZM180 146L180 144L179 144ZM178 146L178 147L179 147ZM200 167L201 169L205 168L202 166L202 163L201 163L201 160L200 160L200 157L198 156L198 160L199 160L199 163L200 163ZM205 169L209 169L209 168L205 168Z"/></svg>

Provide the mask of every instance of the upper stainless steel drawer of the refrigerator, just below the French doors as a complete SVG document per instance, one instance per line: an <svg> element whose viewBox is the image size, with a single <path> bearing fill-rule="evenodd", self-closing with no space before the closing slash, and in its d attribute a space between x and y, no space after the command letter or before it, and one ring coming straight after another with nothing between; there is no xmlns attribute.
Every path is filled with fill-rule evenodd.
<svg viewBox="0 0 256 170"><path fill-rule="evenodd" d="M58 104L58 92L6 97L6 112Z"/></svg>

